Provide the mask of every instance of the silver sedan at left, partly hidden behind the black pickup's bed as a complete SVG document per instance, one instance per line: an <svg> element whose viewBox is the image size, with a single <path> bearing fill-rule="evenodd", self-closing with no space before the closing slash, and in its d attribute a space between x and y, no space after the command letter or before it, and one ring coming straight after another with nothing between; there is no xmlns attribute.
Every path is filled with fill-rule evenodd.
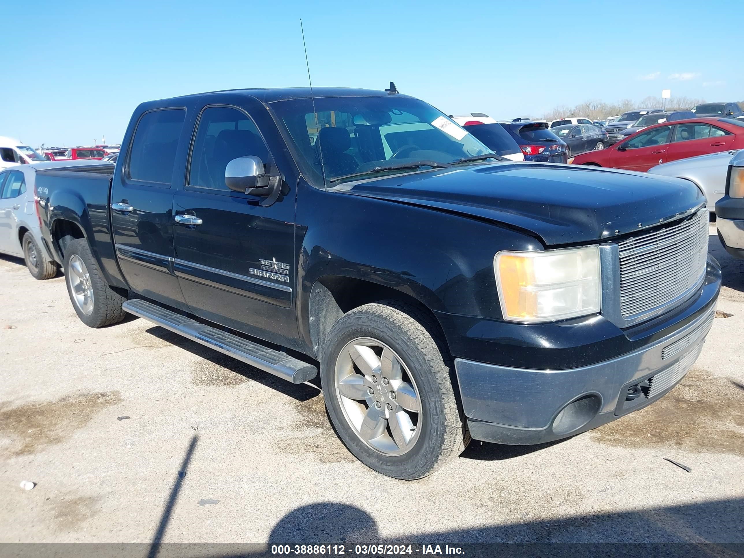
<svg viewBox="0 0 744 558"><path fill-rule="evenodd" d="M95 164L102 163L45 161L3 169L0 172L0 253L22 257L36 279L53 278L57 274L57 264L42 240L36 213L36 171Z"/></svg>

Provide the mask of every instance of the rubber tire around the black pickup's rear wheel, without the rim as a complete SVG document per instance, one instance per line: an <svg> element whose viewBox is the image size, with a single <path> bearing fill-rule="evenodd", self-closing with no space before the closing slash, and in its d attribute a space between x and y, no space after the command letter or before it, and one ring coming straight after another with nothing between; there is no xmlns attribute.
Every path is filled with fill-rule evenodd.
<svg viewBox="0 0 744 558"><path fill-rule="evenodd" d="M88 327L104 327L122 321L126 316L126 312L122 310L121 305L124 304L126 299L115 292L106 283L106 280L103 279L103 274L100 272L100 267L98 267L98 263L93 257L87 241L84 238L69 240L65 243L64 253L67 292L70 295L72 307L77 312L77 317L80 318L80 321L83 321L83 324L86 324ZM86 315L80 310L72 292L71 276L73 272L70 269L70 260L76 255L80 260L83 260L92 286L93 311L89 315Z"/></svg>

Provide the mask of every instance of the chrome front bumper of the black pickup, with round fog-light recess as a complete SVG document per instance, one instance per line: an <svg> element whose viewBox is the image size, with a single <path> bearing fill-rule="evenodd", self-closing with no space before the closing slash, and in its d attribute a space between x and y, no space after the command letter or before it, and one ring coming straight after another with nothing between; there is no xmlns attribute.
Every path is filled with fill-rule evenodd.
<svg viewBox="0 0 744 558"><path fill-rule="evenodd" d="M679 383L705 343L719 273L715 279L690 304L698 310L682 327L609 360L577 368L525 369L455 359L470 434L494 443L544 443L594 429L658 400Z"/></svg>

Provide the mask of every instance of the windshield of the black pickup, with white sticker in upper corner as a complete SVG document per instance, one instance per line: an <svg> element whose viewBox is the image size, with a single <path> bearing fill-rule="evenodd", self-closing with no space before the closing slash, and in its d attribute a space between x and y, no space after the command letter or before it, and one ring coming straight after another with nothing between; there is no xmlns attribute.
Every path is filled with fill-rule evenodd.
<svg viewBox="0 0 744 558"><path fill-rule="evenodd" d="M304 176L316 187L376 167L448 164L493 153L433 106L410 97L319 97L315 110L310 98L270 106L289 132Z"/></svg>

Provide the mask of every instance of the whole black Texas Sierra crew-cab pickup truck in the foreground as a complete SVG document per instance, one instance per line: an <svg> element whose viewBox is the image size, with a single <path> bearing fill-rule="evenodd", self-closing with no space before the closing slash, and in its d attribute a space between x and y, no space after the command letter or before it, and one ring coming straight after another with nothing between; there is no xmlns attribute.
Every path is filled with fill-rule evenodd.
<svg viewBox="0 0 744 558"><path fill-rule="evenodd" d="M143 103L115 167L40 171L36 199L84 323L319 373L341 440L396 478L653 403L720 287L694 185L502 160L394 88Z"/></svg>

